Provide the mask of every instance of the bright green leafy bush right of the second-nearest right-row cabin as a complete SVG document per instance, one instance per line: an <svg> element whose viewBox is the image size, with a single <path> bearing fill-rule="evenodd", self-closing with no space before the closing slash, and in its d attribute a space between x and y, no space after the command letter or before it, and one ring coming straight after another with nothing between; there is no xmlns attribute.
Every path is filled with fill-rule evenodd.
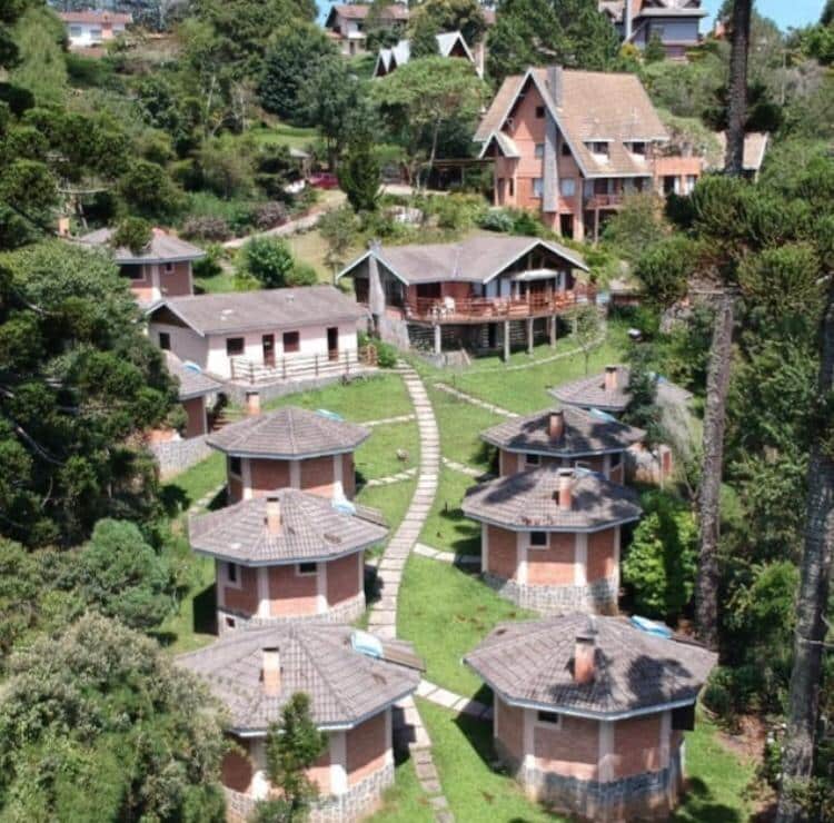
<svg viewBox="0 0 834 823"><path fill-rule="evenodd" d="M643 519L623 559L623 581L637 612L675 619L695 588L698 531L685 503L664 492L643 495Z"/></svg>

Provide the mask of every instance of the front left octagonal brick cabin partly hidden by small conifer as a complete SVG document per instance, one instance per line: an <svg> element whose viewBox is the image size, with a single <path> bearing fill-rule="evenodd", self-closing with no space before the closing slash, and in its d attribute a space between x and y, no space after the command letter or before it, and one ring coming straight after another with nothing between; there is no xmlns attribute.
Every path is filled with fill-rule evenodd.
<svg viewBox="0 0 834 823"><path fill-rule="evenodd" d="M391 706L416 690L421 668L407 644L380 643L348 626L296 623L235 632L177 663L201 677L229 713L228 732L240 747L222 764L229 820L247 820L270 795L267 732L297 692L309 695L312 720L328 736L308 772L319 790L314 823L359 820L394 783Z"/></svg>

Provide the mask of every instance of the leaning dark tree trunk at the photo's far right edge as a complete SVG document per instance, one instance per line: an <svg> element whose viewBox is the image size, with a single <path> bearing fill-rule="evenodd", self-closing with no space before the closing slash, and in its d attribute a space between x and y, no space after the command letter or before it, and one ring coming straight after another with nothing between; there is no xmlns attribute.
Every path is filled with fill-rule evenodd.
<svg viewBox="0 0 834 823"><path fill-rule="evenodd" d="M834 389L834 282L822 325L822 353L817 397ZM795 790L807 784L814 767L814 740L823 673L825 609L834 546L834 457L825 443L827 430L817 430L811 446L805 549L796 602L794 668L791 673L787 732L782 758L777 823L803 820Z"/></svg>

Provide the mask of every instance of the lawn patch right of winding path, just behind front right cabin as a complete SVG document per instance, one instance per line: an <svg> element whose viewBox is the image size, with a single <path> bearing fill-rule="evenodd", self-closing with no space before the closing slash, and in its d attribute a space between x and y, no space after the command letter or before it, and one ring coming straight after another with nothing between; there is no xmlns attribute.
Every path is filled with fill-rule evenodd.
<svg viewBox="0 0 834 823"><path fill-rule="evenodd" d="M411 555L399 589L397 635L411 641L426 661L426 677L463 695L480 681L460 662L496 623L532 617L498 597L476 575L447 563Z"/></svg>

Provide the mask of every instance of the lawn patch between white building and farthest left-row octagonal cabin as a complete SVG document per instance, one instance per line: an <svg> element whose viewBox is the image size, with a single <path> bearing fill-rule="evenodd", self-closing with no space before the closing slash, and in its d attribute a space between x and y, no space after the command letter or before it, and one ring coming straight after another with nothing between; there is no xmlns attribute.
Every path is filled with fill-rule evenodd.
<svg viewBox="0 0 834 823"><path fill-rule="evenodd" d="M326 408L354 423L414 414L411 398L403 379L391 374L361 377L345 386L334 383L314 391L286 395L264 404L267 412L280 406Z"/></svg>

